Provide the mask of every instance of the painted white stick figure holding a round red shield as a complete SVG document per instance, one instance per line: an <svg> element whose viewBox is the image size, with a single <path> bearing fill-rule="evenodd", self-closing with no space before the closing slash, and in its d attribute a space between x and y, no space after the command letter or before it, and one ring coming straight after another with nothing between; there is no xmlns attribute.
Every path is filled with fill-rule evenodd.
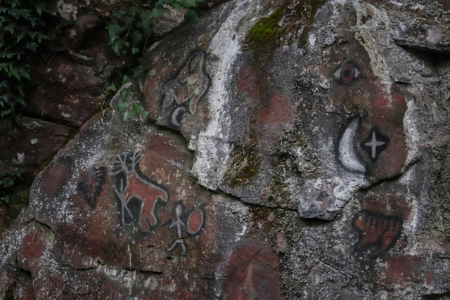
<svg viewBox="0 0 450 300"><path fill-rule="evenodd" d="M191 211L185 211L183 202L176 202L174 206L174 217L169 228L176 230L176 240L167 248L172 252L177 246L181 248L181 255L186 255L187 246L184 236L195 237L205 226L205 203L197 204Z"/></svg>

